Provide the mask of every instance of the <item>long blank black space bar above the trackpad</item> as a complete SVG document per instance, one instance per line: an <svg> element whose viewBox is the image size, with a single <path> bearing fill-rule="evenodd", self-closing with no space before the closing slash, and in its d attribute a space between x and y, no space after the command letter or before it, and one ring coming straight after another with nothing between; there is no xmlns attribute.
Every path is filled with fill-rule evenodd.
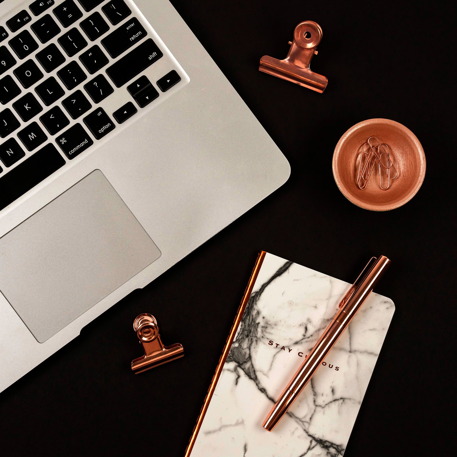
<svg viewBox="0 0 457 457"><path fill-rule="evenodd" d="M53 144L47 144L25 159L0 178L0 209L7 207L64 164L64 158Z"/></svg>

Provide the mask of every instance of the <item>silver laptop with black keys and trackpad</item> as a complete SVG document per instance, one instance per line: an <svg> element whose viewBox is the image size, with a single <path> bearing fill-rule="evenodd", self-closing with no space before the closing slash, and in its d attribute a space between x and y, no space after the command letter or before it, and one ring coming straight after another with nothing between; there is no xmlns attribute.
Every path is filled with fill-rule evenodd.
<svg viewBox="0 0 457 457"><path fill-rule="evenodd" d="M0 102L0 391L290 173L167 0L2 0Z"/></svg>

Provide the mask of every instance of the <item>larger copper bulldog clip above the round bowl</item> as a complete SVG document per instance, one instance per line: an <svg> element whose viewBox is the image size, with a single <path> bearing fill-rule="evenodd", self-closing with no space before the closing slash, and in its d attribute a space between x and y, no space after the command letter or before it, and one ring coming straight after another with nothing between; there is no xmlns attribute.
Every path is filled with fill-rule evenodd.
<svg viewBox="0 0 457 457"><path fill-rule="evenodd" d="M291 47L287 57L278 60L263 56L259 70L322 93L327 87L327 78L309 69L313 55L317 55L316 48L321 39L322 29L319 24L314 21L300 22L293 32L293 41L289 41Z"/></svg>

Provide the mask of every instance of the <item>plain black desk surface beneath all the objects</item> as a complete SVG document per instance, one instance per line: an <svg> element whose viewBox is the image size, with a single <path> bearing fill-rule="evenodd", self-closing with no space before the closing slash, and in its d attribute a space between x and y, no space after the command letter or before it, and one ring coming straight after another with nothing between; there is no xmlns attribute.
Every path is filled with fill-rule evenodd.
<svg viewBox="0 0 457 457"><path fill-rule="evenodd" d="M2 393L0 452L183 455L266 250L348 282L370 256L391 258L376 291L396 312L345 457L453 455L454 14L440 2L172 3L286 155L291 177ZM329 80L324 94L258 71L262 55L286 56L308 19L324 32L312 63ZM347 201L331 170L340 136L372 117L411 129L427 159L419 193L386 213ZM143 312L186 356L134 376L132 322Z"/></svg>

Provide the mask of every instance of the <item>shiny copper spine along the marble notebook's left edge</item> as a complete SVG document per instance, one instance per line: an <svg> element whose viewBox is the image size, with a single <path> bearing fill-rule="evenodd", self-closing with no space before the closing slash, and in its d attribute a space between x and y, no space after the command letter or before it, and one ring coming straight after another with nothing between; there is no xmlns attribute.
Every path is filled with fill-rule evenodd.
<svg viewBox="0 0 457 457"><path fill-rule="evenodd" d="M192 432L191 439L189 444L187 445L186 454L184 457L189 457L192 452L192 448L195 444L195 440L197 439L198 431L202 426L203 419L207 412L209 402L211 401L211 397L213 396L214 389L216 388L216 384L218 383L219 377L221 375L225 360L228 356L228 351L230 351L230 346L233 343L235 338L235 334L238 330L239 323L241 322L241 318L243 317L244 310L246 309L246 305L248 304L249 298L251 296L252 288L254 287L255 280L257 279L257 275L259 274L260 267L262 266L263 259L265 258L266 252L261 251L259 256L257 257L257 261L255 262L254 270L251 273L251 277L244 291L243 299L241 300L241 304L239 305L238 312L236 314L234 323L232 325L232 329L230 330L230 334L228 335L227 342L225 343L224 350L222 352L222 356L219 359L218 367L216 368L216 372L214 373L213 380L211 381L211 385L209 386L208 393L205 397L205 401L203 402L202 409L200 414L198 415L197 424L194 427L194 431Z"/></svg>

